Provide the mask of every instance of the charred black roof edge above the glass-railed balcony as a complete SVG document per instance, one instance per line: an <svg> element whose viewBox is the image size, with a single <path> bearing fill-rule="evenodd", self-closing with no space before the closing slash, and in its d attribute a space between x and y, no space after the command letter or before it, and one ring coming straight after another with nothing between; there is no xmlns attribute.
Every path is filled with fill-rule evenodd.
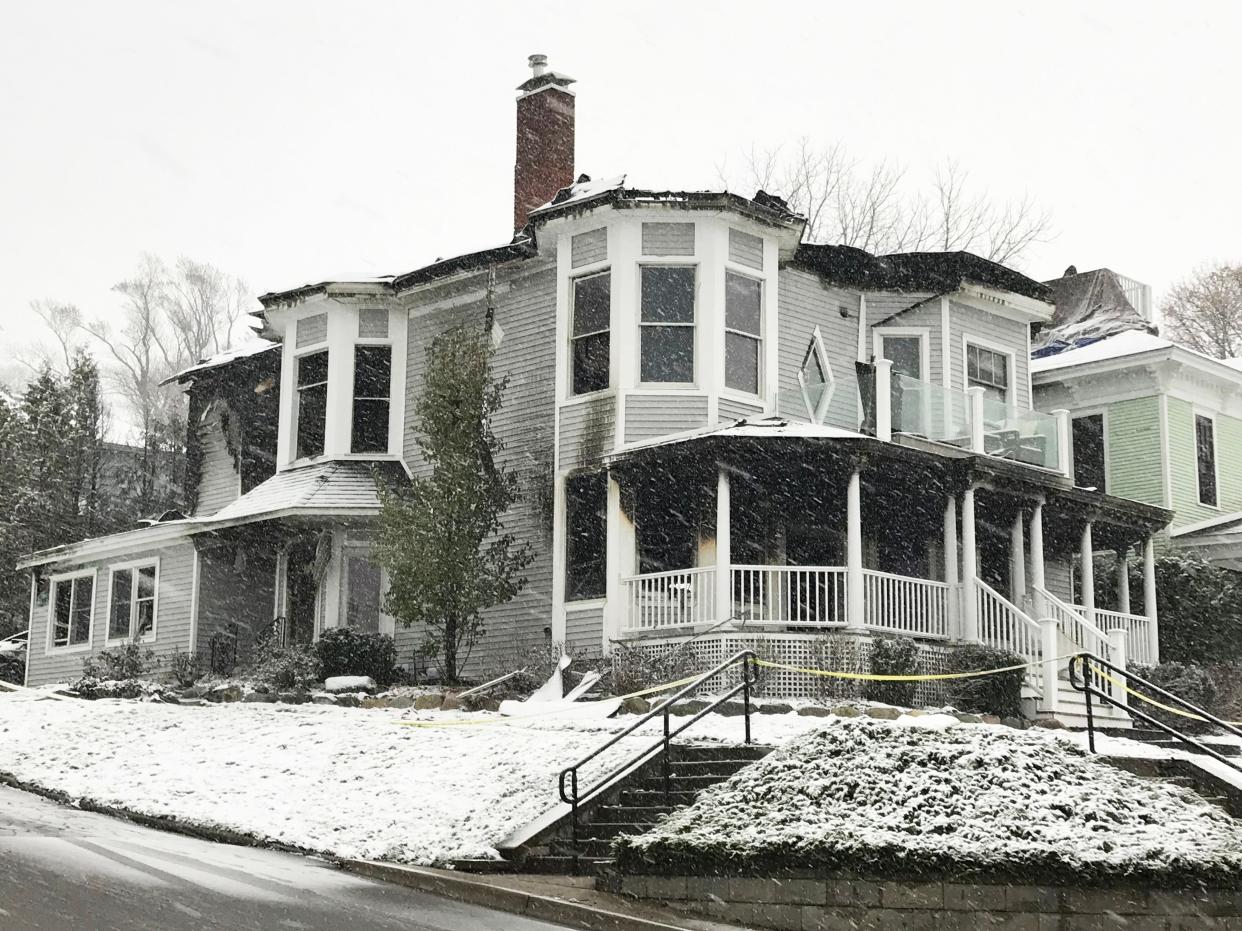
<svg viewBox="0 0 1242 931"><path fill-rule="evenodd" d="M971 252L898 252L874 256L853 246L804 242L791 266L859 290L958 290L970 282L1052 303L1052 289L1021 272Z"/></svg>

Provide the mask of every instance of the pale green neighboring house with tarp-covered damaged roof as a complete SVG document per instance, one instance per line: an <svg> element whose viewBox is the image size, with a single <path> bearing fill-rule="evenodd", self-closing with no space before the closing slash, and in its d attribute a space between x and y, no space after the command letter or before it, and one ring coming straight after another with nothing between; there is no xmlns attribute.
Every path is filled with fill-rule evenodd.
<svg viewBox="0 0 1242 931"><path fill-rule="evenodd" d="M1126 281L1097 269L1048 282L1061 319L1033 351L1036 407L1069 411L1076 485L1169 508L1160 549L1206 546L1242 569L1242 361L1156 335Z"/></svg>

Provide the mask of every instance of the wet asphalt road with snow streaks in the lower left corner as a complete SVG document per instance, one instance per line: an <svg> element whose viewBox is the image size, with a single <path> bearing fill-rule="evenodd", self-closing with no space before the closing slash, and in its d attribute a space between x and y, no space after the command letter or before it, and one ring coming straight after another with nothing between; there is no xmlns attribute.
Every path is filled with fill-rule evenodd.
<svg viewBox="0 0 1242 931"><path fill-rule="evenodd" d="M0 787L0 931L556 931L320 860L165 834Z"/></svg>

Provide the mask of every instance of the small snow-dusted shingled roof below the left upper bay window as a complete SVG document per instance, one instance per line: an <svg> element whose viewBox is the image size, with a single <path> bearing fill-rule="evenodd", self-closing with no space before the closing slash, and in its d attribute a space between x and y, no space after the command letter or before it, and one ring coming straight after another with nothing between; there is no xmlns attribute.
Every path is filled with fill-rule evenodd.
<svg viewBox="0 0 1242 931"><path fill-rule="evenodd" d="M277 472L270 479L226 504L215 514L197 518L200 524L221 526L283 514L323 511L378 511L379 494L370 462L319 462ZM379 463L394 472L394 463ZM400 469L400 466L396 466Z"/></svg>

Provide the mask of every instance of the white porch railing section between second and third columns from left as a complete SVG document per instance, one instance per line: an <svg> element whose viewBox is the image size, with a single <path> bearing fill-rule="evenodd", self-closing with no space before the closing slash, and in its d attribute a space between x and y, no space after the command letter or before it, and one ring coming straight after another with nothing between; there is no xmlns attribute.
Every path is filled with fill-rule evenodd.
<svg viewBox="0 0 1242 931"><path fill-rule="evenodd" d="M733 566L737 621L786 627L846 623L846 570L840 566Z"/></svg>

